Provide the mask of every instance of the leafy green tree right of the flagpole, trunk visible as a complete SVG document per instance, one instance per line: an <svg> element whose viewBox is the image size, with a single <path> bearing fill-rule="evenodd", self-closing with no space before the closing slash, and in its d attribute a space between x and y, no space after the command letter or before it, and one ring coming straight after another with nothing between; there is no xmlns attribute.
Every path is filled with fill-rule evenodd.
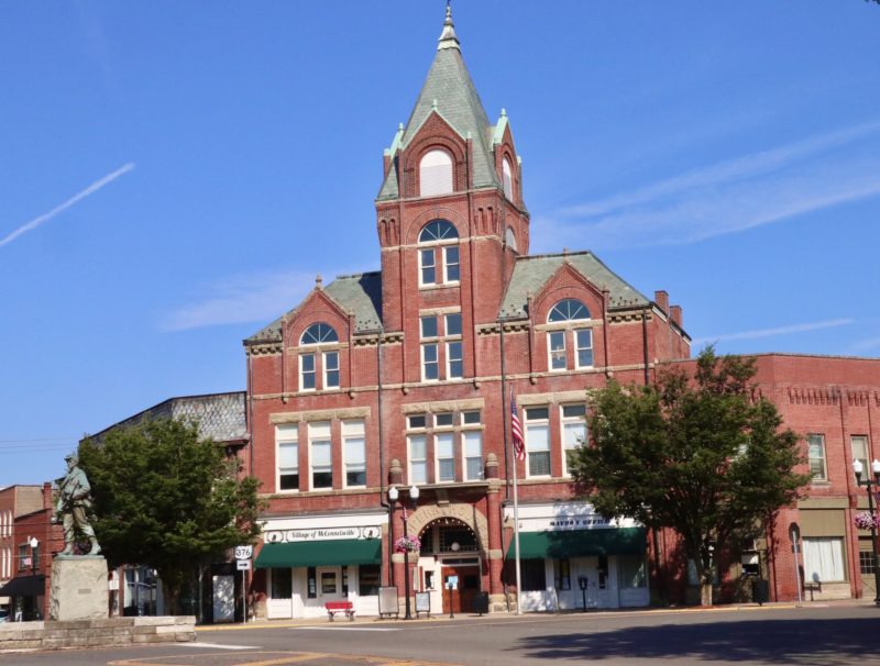
<svg viewBox="0 0 880 666"><path fill-rule="evenodd" d="M752 399L755 359L704 349L693 376L661 371L653 386L610 381L591 393L591 441L572 476L605 515L672 528L696 565L701 602L712 604L713 550L763 533L799 497L809 475L799 436L763 398Z"/></svg>

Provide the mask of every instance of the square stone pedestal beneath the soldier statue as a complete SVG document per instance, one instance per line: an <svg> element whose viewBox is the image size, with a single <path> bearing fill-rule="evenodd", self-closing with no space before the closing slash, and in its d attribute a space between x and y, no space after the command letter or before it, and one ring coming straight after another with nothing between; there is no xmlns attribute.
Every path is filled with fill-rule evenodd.
<svg viewBox="0 0 880 666"><path fill-rule="evenodd" d="M100 555L58 555L52 563L50 619L105 620L108 612L107 560Z"/></svg>

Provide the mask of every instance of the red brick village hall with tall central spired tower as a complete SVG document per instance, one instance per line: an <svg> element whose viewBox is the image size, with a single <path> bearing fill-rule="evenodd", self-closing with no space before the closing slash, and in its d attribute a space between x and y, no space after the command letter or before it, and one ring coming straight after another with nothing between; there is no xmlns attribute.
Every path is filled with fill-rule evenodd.
<svg viewBox="0 0 880 666"><path fill-rule="evenodd" d="M381 271L319 279L244 341L251 470L268 501L261 612L377 614L406 588L432 612L501 611L517 591L525 609L549 608L548 590L559 608L647 604L645 530L574 497L566 455L586 436L586 389L690 355L681 309L590 252L528 255L510 123L504 110L490 122L449 8L385 151L376 231ZM520 590L505 567L514 474Z"/></svg>

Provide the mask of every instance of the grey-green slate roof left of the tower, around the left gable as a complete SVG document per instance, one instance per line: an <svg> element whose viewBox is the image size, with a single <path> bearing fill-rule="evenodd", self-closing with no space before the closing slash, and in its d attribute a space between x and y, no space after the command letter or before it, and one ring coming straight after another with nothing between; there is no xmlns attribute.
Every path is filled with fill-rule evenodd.
<svg viewBox="0 0 880 666"><path fill-rule="evenodd" d="M323 292L354 315L354 333L375 331L382 326L382 274L341 275L323 288ZM278 318L250 337L244 344L278 342L282 338Z"/></svg>

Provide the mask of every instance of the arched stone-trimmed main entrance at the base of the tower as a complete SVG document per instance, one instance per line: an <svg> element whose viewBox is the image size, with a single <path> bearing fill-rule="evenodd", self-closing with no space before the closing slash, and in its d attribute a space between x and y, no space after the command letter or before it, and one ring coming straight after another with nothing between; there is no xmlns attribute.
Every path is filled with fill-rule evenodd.
<svg viewBox="0 0 880 666"><path fill-rule="evenodd" d="M419 539L421 553L414 578L417 589L430 595L431 612L473 612L483 580L479 526L474 530L462 515L447 514L424 524Z"/></svg>

